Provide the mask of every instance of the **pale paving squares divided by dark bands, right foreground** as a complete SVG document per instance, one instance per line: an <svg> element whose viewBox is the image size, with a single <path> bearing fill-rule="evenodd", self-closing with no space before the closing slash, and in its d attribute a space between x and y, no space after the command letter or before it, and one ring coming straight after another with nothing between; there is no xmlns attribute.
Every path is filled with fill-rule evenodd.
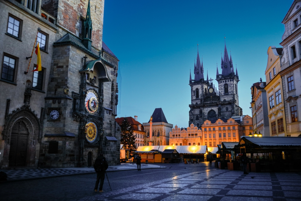
<svg viewBox="0 0 301 201"><path fill-rule="evenodd" d="M301 174L198 171L81 199L93 200L297 201Z"/></svg>

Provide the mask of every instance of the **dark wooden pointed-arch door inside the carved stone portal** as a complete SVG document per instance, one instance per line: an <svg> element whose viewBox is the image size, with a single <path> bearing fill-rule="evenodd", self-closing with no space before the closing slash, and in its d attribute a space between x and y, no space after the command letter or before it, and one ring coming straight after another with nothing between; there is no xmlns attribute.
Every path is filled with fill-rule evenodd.
<svg viewBox="0 0 301 201"><path fill-rule="evenodd" d="M23 121L16 122L11 130L9 166L25 166L29 132Z"/></svg>

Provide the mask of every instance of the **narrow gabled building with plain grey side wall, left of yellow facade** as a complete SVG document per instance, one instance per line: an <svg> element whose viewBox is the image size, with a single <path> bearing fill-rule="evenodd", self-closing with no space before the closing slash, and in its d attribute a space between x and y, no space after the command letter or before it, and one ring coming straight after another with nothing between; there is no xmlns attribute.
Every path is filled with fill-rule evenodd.
<svg viewBox="0 0 301 201"><path fill-rule="evenodd" d="M259 82L254 83L251 86L251 109L253 117L253 133L261 133L262 136L270 136L270 127L268 123L268 104L265 91L266 82L262 82L260 78Z"/></svg>

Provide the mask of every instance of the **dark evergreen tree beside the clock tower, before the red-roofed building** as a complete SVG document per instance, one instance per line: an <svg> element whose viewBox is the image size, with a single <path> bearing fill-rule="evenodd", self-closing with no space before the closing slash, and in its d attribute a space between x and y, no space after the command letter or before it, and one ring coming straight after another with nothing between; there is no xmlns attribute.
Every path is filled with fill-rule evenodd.
<svg viewBox="0 0 301 201"><path fill-rule="evenodd" d="M124 118L121 122L121 139L120 143L123 144L124 149L132 150L132 152L136 149L135 146L135 137L133 135L133 127L130 124L128 118Z"/></svg>

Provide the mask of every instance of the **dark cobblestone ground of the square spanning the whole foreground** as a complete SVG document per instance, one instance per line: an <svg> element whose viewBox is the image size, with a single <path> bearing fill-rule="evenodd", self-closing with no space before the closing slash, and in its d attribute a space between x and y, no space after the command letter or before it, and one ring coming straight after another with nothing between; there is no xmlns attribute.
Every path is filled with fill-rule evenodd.
<svg viewBox="0 0 301 201"><path fill-rule="evenodd" d="M157 163L156 163L157 164ZM108 172L104 193L94 193L96 174L0 184L1 201L70 200L290 200L301 198L299 173L250 173L200 164L157 164L163 169ZM253 177L253 178L252 178Z"/></svg>

